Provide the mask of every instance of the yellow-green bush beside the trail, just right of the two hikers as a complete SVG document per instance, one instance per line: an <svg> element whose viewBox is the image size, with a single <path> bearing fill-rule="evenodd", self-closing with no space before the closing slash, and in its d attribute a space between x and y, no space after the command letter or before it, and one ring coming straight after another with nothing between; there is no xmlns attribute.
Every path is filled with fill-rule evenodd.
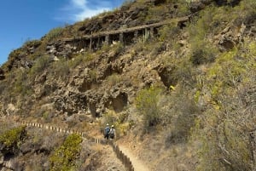
<svg viewBox="0 0 256 171"><path fill-rule="evenodd" d="M137 94L137 110L143 116L146 129L154 127L160 123L160 94L161 89L154 86L142 89Z"/></svg>

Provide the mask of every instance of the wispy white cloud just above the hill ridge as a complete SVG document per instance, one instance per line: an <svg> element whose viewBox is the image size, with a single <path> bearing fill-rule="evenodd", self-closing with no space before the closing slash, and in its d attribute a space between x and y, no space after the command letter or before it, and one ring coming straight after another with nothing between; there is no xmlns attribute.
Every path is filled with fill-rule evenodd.
<svg viewBox="0 0 256 171"><path fill-rule="evenodd" d="M101 0L100 3L96 3L96 0L94 1L69 0L69 3L62 9L65 14L61 14L61 17L57 17L57 19L73 22L80 21L111 9L111 4L107 0Z"/></svg>

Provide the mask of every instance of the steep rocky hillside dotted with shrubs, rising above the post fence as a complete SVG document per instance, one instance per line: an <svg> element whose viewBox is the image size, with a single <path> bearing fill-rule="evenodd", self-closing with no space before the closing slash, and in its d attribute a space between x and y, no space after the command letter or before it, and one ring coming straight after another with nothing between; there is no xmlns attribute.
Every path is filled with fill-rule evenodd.
<svg viewBox="0 0 256 171"><path fill-rule="evenodd" d="M137 0L55 28L1 66L0 115L98 137L113 124L151 170L254 170L255 17L254 0ZM101 170L105 150L80 155Z"/></svg>

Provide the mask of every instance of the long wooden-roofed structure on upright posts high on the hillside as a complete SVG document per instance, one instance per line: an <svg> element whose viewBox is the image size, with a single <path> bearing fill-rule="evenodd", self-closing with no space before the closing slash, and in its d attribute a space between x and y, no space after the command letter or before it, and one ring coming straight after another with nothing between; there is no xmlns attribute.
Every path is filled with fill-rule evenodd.
<svg viewBox="0 0 256 171"><path fill-rule="evenodd" d="M146 41L155 35L158 35L158 28L168 24L175 23L178 26L183 26L184 23L190 20L191 16L195 15L189 14L180 18L172 18L170 20L163 20L158 23L153 23L143 26L134 26L131 28L120 28L119 30L113 31L99 31L92 33L91 35L84 35L80 37L64 37L61 38L65 44L72 47L72 51L75 54L83 53L84 51L97 50L102 48L104 44L121 43L122 45L129 45L131 43L136 43L137 41ZM56 49L58 47L55 47ZM60 50L61 51L61 50Z"/></svg>

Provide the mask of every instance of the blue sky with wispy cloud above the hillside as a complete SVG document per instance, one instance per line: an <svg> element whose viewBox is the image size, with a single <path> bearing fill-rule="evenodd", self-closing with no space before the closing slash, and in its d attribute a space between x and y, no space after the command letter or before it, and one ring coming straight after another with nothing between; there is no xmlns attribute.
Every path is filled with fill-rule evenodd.
<svg viewBox="0 0 256 171"><path fill-rule="evenodd" d="M1 0L0 65L27 40L121 6L125 0Z"/></svg>

